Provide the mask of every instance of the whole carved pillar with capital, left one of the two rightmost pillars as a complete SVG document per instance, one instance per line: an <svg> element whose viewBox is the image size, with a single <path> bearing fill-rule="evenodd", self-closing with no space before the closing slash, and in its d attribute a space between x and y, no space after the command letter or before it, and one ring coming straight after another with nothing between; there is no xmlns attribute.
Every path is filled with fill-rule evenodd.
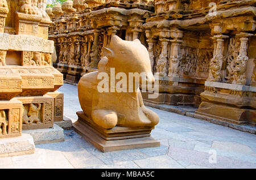
<svg viewBox="0 0 256 180"><path fill-rule="evenodd" d="M214 54L210 60L209 76L207 81L221 82L221 67L223 63L224 38L229 36L215 35L214 37Z"/></svg>

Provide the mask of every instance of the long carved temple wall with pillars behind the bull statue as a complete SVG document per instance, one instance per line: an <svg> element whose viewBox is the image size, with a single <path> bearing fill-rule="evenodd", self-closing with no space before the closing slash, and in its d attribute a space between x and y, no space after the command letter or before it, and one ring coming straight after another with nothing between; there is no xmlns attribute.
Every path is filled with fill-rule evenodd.
<svg viewBox="0 0 256 180"><path fill-rule="evenodd" d="M113 35L138 38L160 76L158 98L142 92L147 105L194 106L197 117L255 125L254 6L252 0L67 1L47 11L53 66L78 83L97 71Z"/></svg>

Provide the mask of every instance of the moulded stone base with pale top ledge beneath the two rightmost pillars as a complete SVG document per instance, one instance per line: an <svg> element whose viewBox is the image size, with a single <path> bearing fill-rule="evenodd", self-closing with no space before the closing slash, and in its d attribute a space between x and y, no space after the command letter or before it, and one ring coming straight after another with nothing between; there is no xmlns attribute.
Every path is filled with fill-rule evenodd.
<svg viewBox="0 0 256 180"><path fill-rule="evenodd" d="M256 87L205 82L202 103L196 114L235 124L256 125Z"/></svg>

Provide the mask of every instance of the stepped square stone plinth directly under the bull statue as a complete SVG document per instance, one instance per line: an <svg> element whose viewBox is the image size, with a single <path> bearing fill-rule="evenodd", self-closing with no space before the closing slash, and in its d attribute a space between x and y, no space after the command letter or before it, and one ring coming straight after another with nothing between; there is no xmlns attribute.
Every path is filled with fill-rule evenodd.
<svg viewBox="0 0 256 180"><path fill-rule="evenodd" d="M79 119L73 123L75 131L102 152L160 146L160 142L150 137L153 128L116 126L106 130L96 125L83 112L77 112L77 115Z"/></svg>

